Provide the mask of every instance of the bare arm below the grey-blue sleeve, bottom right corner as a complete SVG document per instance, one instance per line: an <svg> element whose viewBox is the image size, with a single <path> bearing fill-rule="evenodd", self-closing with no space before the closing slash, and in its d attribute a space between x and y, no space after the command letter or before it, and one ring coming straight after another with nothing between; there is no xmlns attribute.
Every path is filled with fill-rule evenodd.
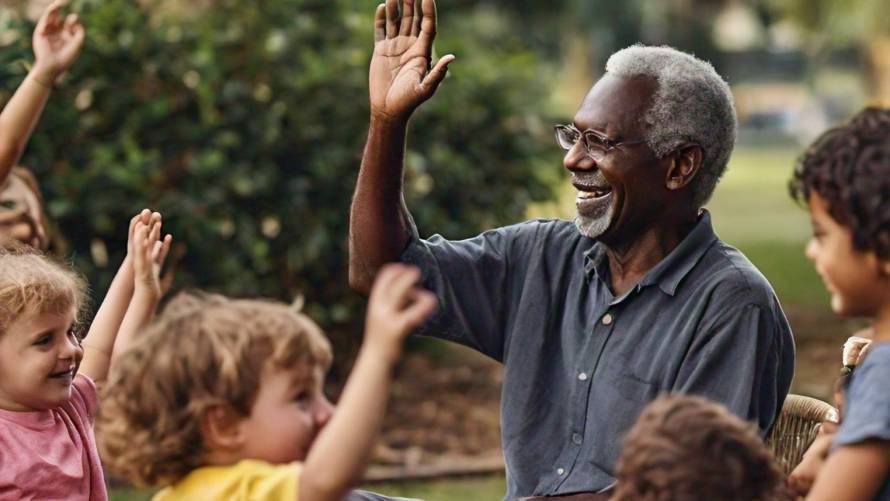
<svg viewBox="0 0 890 501"><path fill-rule="evenodd" d="M890 473L890 442L871 440L845 445L828 456L807 501L875 499Z"/></svg>

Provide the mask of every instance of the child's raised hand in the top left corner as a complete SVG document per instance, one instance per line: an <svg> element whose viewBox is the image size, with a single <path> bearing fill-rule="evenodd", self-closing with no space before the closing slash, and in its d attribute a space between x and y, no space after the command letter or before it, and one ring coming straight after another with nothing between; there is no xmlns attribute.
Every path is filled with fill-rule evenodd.
<svg viewBox="0 0 890 501"><path fill-rule="evenodd" d="M68 0L55 0L40 16L34 30L34 69L52 85L80 54L86 33L76 14L62 18L61 10Z"/></svg>

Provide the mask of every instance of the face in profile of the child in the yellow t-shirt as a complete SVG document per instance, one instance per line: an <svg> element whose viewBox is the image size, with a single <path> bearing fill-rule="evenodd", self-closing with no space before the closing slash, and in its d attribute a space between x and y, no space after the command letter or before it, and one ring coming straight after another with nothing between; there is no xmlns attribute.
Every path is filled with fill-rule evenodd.
<svg viewBox="0 0 890 501"><path fill-rule="evenodd" d="M245 457L276 464L306 459L334 407L322 391L321 367L311 377L296 376L293 370L263 370L250 416L241 422Z"/></svg>

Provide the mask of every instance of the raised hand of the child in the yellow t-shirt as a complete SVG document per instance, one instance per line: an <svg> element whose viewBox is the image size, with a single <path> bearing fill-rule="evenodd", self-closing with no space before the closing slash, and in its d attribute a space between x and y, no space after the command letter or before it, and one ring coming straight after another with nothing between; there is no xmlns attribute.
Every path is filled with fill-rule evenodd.
<svg viewBox="0 0 890 501"><path fill-rule="evenodd" d="M380 269L368 304L365 345L395 362L408 334L436 310L436 296L417 287L420 270L404 264Z"/></svg>

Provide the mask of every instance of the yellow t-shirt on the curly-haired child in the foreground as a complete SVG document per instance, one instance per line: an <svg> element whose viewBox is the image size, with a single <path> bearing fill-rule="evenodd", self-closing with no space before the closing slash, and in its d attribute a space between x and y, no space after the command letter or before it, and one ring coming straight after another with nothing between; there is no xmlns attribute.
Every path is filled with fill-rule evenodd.
<svg viewBox="0 0 890 501"><path fill-rule="evenodd" d="M296 501L300 467L255 459L205 466L158 492L152 501Z"/></svg>

